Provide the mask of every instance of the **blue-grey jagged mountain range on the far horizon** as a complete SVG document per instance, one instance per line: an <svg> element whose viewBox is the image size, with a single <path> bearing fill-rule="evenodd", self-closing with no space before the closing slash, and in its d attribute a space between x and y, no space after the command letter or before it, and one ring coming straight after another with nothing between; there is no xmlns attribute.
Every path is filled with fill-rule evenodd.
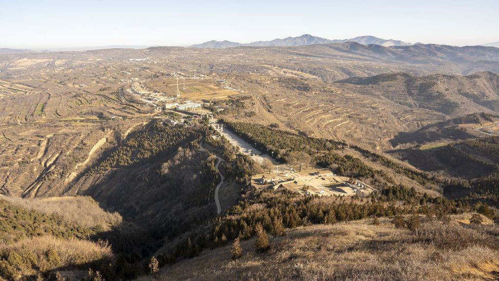
<svg viewBox="0 0 499 281"><path fill-rule="evenodd" d="M374 36L358 36L350 39L341 39L341 40L329 40L326 38L321 38L317 36L312 36L310 34L303 34L298 37L287 37L283 39L273 39L270 41L255 41L251 43L239 43L239 42L231 42L231 41L208 41L202 44L195 44L191 47L198 48L230 48L237 46L258 46L258 47L270 47L270 46L304 46L304 45L313 45L313 44L328 44L328 43L344 43L348 41L357 42L360 44L377 44L382 46L407 46L412 45L408 42L403 42L400 40L393 39L382 39Z"/></svg>

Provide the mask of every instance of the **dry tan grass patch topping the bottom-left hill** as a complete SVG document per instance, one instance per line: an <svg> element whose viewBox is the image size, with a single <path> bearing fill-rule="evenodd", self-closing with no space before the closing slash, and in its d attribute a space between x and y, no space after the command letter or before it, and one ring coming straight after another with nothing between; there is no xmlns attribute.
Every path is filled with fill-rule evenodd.
<svg viewBox="0 0 499 281"><path fill-rule="evenodd" d="M109 229L112 225L121 223L121 215L117 212L107 212L90 196L21 198L1 196L2 199L25 209L36 210L46 214L57 213L69 221L74 221L85 227L101 225Z"/></svg>

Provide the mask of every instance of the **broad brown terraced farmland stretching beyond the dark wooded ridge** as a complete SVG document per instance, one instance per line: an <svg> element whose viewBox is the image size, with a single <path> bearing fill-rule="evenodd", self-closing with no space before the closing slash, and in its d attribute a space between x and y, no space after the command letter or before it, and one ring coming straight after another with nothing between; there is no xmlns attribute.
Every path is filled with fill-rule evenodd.
<svg viewBox="0 0 499 281"><path fill-rule="evenodd" d="M369 48L342 43L0 55L0 192L59 194L104 148L164 116L166 103L216 102L229 119L378 151L398 145L393 139L401 133L499 110L495 73L451 75L468 71L468 62L447 53L428 56L431 63L402 61ZM435 72L446 74L428 76ZM152 94L131 94L132 85Z"/></svg>

